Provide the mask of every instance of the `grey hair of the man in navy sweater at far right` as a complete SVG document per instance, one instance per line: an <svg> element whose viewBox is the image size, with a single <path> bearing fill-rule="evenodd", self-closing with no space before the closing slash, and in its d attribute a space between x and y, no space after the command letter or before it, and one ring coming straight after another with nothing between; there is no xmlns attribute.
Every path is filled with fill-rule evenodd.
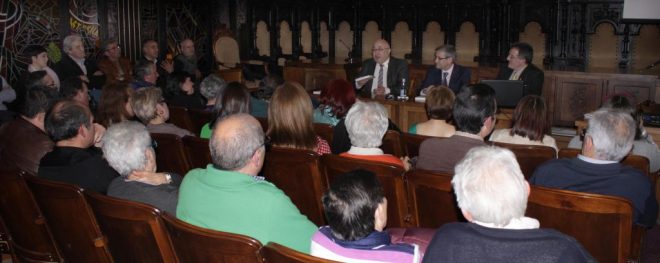
<svg viewBox="0 0 660 263"><path fill-rule="evenodd" d="M602 108L591 114L586 135L593 141L597 159L618 162L632 149L635 132L629 111Z"/></svg>

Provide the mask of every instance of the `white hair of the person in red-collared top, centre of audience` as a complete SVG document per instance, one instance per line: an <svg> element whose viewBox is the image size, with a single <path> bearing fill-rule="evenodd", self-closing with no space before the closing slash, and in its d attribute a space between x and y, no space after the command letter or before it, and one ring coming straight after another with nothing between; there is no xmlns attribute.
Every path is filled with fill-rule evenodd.
<svg viewBox="0 0 660 263"><path fill-rule="evenodd" d="M387 110L378 102L357 101L346 114L346 130L351 145L376 148L387 132Z"/></svg>

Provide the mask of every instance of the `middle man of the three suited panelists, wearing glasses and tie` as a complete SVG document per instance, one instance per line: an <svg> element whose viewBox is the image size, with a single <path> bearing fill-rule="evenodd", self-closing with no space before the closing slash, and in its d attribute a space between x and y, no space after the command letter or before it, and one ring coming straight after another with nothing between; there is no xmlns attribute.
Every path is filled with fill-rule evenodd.
<svg viewBox="0 0 660 263"><path fill-rule="evenodd" d="M458 94L461 88L470 84L470 69L454 64L456 60L456 48L452 45L444 45L435 49L435 67L426 72L426 78L422 85L417 87L417 94L426 95L430 86L446 86L454 94Z"/></svg>

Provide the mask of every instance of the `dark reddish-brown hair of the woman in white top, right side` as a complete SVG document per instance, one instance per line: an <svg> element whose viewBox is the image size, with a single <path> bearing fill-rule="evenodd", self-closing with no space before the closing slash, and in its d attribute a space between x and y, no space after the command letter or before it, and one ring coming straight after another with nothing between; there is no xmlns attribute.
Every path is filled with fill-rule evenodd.
<svg viewBox="0 0 660 263"><path fill-rule="evenodd" d="M550 130L548 110L541 96L527 95L522 98L513 110L513 127L511 136L520 135L532 141L543 141Z"/></svg>

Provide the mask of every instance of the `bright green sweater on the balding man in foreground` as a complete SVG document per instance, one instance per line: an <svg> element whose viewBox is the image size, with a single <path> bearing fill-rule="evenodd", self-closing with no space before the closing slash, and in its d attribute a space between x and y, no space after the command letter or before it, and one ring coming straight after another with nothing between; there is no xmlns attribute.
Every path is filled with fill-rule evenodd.
<svg viewBox="0 0 660 263"><path fill-rule="evenodd" d="M317 230L275 185L211 164L183 178L176 216L196 226L250 236L263 245L273 241L304 253L309 253Z"/></svg>

